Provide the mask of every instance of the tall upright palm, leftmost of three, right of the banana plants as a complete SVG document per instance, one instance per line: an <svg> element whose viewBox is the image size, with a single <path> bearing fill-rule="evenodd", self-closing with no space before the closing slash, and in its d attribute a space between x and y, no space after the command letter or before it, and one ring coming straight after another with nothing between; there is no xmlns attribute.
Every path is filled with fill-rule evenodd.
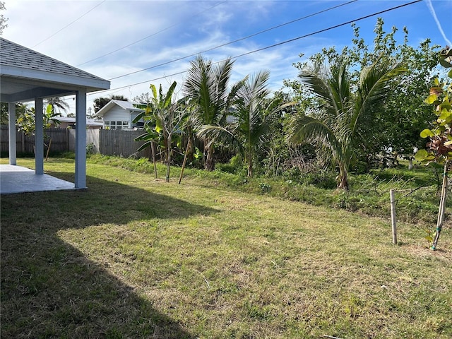
<svg viewBox="0 0 452 339"><path fill-rule="evenodd" d="M189 75L184 83L184 94L196 106L194 110L194 123L202 125L220 125L225 122L226 112L231 105L234 88L229 91L228 83L234 61L227 59L214 66L201 56L191 61ZM203 138L204 152L206 153L205 168L213 170L215 139L205 136Z"/></svg>

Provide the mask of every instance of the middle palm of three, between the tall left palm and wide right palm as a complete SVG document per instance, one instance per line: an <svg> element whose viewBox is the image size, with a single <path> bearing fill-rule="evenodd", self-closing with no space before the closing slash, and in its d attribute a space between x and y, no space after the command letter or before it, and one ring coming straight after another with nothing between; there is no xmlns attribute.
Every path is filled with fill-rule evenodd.
<svg viewBox="0 0 452 339"><path fill-rule="evenodd" d="M254 76L247 76L239 84L234 106L230 115L233 122L229 126L204 125L199 133L234 145L242 154L248 166L248 176L253 176L253 160L256 152L266 142L270 132L266 117L270 117L269 109L275 107L275 100L268 100L268 71L261 71ZM279 100L278 100L279 102ZM264 115L264 112L270 113Z"/></svg>

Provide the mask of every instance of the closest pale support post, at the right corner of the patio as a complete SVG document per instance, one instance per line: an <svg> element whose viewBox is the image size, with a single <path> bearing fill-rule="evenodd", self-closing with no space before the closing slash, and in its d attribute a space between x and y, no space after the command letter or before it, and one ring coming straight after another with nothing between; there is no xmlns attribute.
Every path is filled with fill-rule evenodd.
<svg viewBox="0 0 452 339"><path fill-rule="evenodd" d="M86 188L86 90L76 93L76 189Z"/></svg>

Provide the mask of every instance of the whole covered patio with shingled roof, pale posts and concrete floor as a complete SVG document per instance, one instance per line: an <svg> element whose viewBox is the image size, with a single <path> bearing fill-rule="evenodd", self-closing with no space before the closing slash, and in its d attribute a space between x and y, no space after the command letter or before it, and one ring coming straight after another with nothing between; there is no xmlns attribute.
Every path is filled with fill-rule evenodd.
<svg viewBox="0 0 452 339"><path fill-rule="evenodd" d="M17 167L16 133L8 133L9 165L0 166L0 194L86 188L86 94L110 83L0 37L0 100L8 103L8 131L16 131L16 102L35 103L35 170ZM74 183L44 174L43 100L76 95ZM31 172L30 172L31 171Z"/></svg>

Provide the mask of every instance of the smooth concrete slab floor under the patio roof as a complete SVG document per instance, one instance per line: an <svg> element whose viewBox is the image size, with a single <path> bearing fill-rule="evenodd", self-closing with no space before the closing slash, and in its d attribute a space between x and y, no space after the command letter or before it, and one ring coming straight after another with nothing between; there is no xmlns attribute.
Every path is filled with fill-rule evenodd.
<svg viewBox="0 0 452 339"><path fill-rule="evenodd" d="M15 165L0 165L0 194L25 192L59 191L76 189L72 182L66 182L49 174L35 174L35 171Z"/></svg>

